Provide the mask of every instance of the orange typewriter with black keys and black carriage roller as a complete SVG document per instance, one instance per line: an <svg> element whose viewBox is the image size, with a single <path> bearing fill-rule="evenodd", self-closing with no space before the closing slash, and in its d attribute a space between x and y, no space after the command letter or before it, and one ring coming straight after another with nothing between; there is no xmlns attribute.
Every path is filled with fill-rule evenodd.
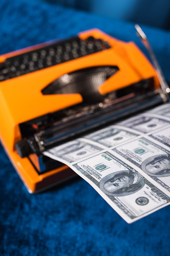
<svg viewBox="0 0 170 256"><path fill-rule="evenodd" d="M0 139L30 193L76 175L44 150L167 100L135 43L98 29L0 56Z"/></svg>

